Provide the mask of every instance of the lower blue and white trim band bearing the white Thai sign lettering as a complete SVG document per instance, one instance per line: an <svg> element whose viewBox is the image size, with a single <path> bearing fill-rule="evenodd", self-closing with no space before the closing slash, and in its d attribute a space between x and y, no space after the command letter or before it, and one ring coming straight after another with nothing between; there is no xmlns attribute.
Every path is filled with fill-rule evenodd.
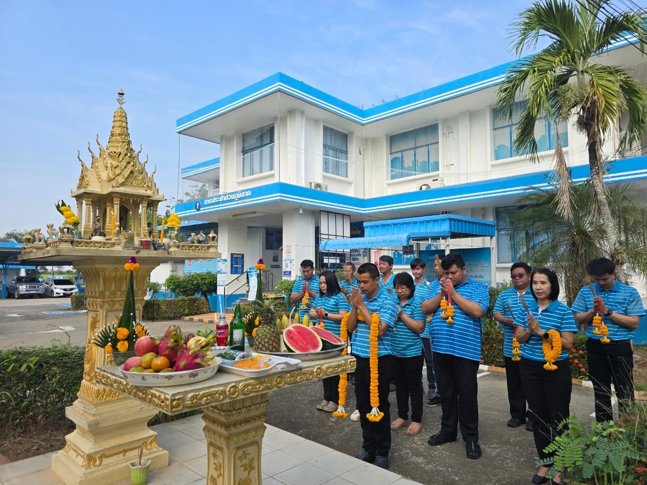
<svg viewBox="0 0 647 485"><path fill-rule="evenodd" d="M529 164L529 169L532 165ZM573 180L581 182L589 176L589 166L573 167ZM226 193L208 199L192 200L177 204L175 210L180 217L214 213L234 208L245 209L267 202L293 202L307 206L315 206L324 210L340 211L371 215L384 211L406 210L410 208L437 208L453 202L465 200L478 202L480 200L496 199L510 195L525 193L529 186L548 188L547 181L542 175L550 172L534 172L512 177L482 180L430 190L411 191L399 194L360 199L359 197L339 197L338 194L314 190L310 188L274 182L263 186L245 189L237 193ZM605 176L605 181L628 182L647 178L647 155L623 158L613 162L613 166ZM343 202L340 202L343 201ZM199 208L198 208L199 206ZM437 209L436 209L437 210Z"/></svg>

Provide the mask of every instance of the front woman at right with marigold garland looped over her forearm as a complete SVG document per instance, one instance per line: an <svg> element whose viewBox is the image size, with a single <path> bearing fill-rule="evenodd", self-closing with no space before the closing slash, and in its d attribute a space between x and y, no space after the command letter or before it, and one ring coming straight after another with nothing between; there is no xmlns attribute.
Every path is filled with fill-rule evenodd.
<svg viewBox="0 0 647 485"><path fill-rule="evenodd" d="M573 347L573 336L577 332L577 325L571 308L557 301L560 283L552 270L547 268L534 270L530 288L538 308L530 310L528 314L521 305L514 319L514 325L518 327L516 338L522 344L521 383L528 400L528 407L537 417L532 430L534 444L540 460L543 460L553 456L543 450L557 436L558 424L569 416L572 383L568 350ZM554 366L547 364L547 356L543 352L543 343L548 342L549 348L554 348L556 344L554 339L557 336L549 330L559 332L559 343L562 345L562 352L556 356ZM549 469L550 467L540 466L532 477L532 483L539 485L547 482L546 473ZM561 482L562 473L558 471L551 483Z"/></svg>

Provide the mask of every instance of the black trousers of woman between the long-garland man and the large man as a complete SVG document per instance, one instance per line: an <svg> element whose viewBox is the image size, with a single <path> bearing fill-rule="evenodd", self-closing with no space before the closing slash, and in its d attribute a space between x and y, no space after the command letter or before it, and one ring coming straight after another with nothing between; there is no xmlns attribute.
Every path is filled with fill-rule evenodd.
<svg viewBox="0 0 647 485"><path fill-rule="evenodd" d="M421 423L422 396L424 395L422 390L422 354L414 357L391 357L391 374L395 377L398 417L405 421L409 420L409 398L411 397L411 422Z"/></svg>

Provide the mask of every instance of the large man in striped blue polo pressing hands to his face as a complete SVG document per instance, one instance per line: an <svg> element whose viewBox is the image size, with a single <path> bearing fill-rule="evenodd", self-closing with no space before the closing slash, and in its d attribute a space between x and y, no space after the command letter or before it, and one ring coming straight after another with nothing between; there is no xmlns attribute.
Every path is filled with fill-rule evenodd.
<svg viewBox="0 0 647 485"><path fill-rule="evenodd" d="M490 296L485 286L467 277L461 253L446 254L441 267L441 291L421 305L423 314L433 314L433 368L443 409L441 430L427 442L437 446L455 441L460 422L466 455L476 459L481 457L476 374L481 361L481 318ZM452 298L453 323L441 316L444 297Z"/></svg>

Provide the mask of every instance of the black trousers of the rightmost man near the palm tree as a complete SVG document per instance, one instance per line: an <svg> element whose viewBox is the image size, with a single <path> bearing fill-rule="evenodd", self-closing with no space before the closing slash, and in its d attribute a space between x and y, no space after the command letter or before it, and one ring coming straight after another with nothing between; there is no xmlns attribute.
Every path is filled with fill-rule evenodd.
<svg viewBox="0 0 647 485"><path fill-rule="evenodd" d="M595 396L595 420L597 422L613 420L611 405L611 382L618 398L618 408L624 408L633 402L633 349L631 342L602 343L599 339L589 338L586 341L586 352L589 358L589 376L593 382Z"/></svg>

